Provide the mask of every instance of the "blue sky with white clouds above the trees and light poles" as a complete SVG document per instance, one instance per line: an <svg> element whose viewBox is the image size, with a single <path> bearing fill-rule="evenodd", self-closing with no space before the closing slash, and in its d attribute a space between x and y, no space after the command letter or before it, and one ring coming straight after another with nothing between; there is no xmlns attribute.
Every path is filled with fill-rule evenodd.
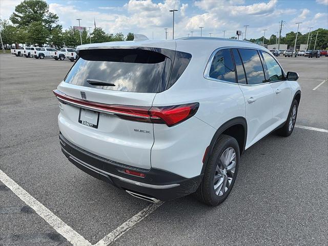
<svg viewBox="0 0 328 246"><path fill-rule="evenodd" d="M1 0L0 16L9 18L15 5L20 1ZM175 18L175 37L187 36L194 31L200 35L199 27L204 27L203 35L222 37L222 30L227 30L226 37L234 36L236 30L244 32L243 25L249 25L247 38L260 37L263 29L268 29L269 37L279 30L283 20L282 34L296 31L296 22L300 31L305 33L308 27L328 29L328 0L196 0L196 1L64 1L48 0L50 11L59 16L64 28L78 25L76 18L81 18L81 26L104 28L106 32L128 32L146 34L148 37L164 38L164 28L169 28L172 35L172 13L178 9Z"/></svg>

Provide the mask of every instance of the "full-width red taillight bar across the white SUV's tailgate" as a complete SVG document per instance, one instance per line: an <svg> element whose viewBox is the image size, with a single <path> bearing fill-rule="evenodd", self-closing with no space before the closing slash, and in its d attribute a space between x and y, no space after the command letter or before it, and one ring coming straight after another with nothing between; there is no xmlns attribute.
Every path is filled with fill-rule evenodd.
<svg viewBox="0 0 328 246"><path fill-rule="evenodd" d="M77 107L83 106L91 110L114 114L127 120L166 124L169 127L189 119L196 114L199 108L199 103L163 107L108 105L71 97L58 90L54 90L53 93L64 103Z"/></svg>

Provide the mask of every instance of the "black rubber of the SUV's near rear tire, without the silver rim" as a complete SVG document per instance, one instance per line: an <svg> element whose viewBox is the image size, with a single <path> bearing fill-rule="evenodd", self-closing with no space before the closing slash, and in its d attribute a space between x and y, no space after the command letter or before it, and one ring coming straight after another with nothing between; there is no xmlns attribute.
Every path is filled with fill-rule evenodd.
<svg viewBox="0 0 328 246"><path fill-rule="evenodd" d="M220 161L220 157L224 151L228 148L233 148L236 153L236 166L233 174L232 181L229 188L223 195L219 196L214 191L214 175L216 174L216 167ZM203 179L195 192L195 196L201 202L208 204L209 206L218 206L224 200L227 199L229 193L231 192L232 187L234 186L238 167L239 167L239 145L235 138L222 134L219 136L217 143L215 144L212 154L208 159Z"/></svg>

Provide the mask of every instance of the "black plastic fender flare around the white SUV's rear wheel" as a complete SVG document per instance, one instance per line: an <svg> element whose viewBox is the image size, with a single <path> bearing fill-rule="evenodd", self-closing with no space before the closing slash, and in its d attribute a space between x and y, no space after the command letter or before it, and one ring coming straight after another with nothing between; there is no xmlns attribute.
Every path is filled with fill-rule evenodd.
<svg viewBox="0 0 328 246"><path fill-rule="evenodd" d="M215 132L211 144L207 147L206 153L204 154L204 159L203 159L203 167L201 169L201 174L204 173L205 168L207 166L207 162L209 160L209 157L211 156L213 152L213 148L217 143L217 140L219 136L226 131L228 128L235 126L235 125L241 125L244 128L244 142L243 142L243 147L240 149L240 155L244 152L245 146L246 146L246 140L247 140L247 121L244 117L235 117L232 118L226 122L224 122Z"/></svg>

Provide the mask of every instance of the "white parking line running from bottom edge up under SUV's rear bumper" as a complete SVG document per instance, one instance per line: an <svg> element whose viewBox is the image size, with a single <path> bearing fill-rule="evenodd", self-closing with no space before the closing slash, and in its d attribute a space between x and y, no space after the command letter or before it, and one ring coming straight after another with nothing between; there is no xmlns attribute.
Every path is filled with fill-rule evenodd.
<svg viewBox="0 0 328 246"><path fill-rule="evenodd" d="M94 246L106 246L120 236L124 235L127 231L129 231L135 224L140 222L142 219L146 218L152 212L154 212L158 207L160 207L164 202L152 203L147 206L145 209L141 210L139 213L134 215L131 219L127 220L126 222L122 223L118 228L112 231L110 234L105 236L99 242L94 244Z"/></svg>

